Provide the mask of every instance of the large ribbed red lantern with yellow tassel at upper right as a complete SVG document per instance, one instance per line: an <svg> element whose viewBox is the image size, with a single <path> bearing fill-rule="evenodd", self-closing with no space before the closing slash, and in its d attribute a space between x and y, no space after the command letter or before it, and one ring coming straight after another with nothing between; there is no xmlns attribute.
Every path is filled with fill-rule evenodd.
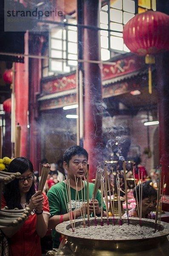
<svg viewBox="0 0 169 256"><path fill-rule="evenodd" d="M133 53L144 55L149 64L149 93L152 93L150 64L155 64L154 54L169 50L169 15L162 12L143 12L135 15L124 26L123 39Z"/></svg>

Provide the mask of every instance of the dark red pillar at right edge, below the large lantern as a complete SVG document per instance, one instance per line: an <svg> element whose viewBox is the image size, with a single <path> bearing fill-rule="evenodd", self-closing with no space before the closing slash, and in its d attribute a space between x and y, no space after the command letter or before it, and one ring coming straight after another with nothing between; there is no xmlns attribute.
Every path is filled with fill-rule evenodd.
<svg viewBox="0 0 169 256"><path fill-rule="evenodd" d="M162 177L165 175L166 195L169 195L169 52L157 57L157 89L159 118L159 152Z"/></svg>

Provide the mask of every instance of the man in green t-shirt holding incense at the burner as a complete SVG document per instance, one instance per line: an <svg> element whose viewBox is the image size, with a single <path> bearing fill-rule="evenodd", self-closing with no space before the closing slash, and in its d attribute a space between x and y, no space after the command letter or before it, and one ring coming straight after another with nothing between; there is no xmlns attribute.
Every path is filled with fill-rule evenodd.
<svg viewBox="0 0 169 256"><path fill-rule="evenodd" d="M58 248L60 244L60 234L55 231L56 225L60 224L60 222L62 221L69 221L70 215L68 214L67 209L71 211L72 216L75 216L76 218L81 218L81 213L83 212L82 204L84 202L84 198L87 199L87 185L86 182L83 180L87 172L87 161L88 153L84 148L77 145L68 148L63 154L63 167L67 170L67 179L57 183L56 185L53 185L47 193L51 214L51 217L49 219L49 229L52 229L53 248ZM71 203L67 199L69 197L67 195L68 180L70 182ZM77 199L75 202L76 182L79 199ZM92 202L93 189L94 184L89 183L89 212L91 216L94 211ZM96 215L100 216L101 195L99 191L97 191L96 199L94 200L94 202ZM105 210L106 207L103 203L103 216L106 216ZM87 214L87 204L85 204L85 213Z"/></svg>

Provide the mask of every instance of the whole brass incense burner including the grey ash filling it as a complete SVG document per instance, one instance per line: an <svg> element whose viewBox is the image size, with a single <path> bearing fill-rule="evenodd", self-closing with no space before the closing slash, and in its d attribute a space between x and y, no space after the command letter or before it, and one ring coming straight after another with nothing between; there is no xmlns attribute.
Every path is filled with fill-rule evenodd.
<svg viewBox="0 0 169 256"><path fill-rule="evenodd" d="M123 218L123 225L118 225L118 218L109 218L109 226L104 218L103 226L100 218L90 219L90 227L83 227L83 222L75 221L75 231L72 233L69 221L56 227L56 231L65 235L60 244L60 253L67 256L142 256L168 255L169 224L161 222L160 231L155 230L155 221L142 219L142 227L138 218L130 218L130 224ZM54 254L53 254L54 255Z"/></svg>

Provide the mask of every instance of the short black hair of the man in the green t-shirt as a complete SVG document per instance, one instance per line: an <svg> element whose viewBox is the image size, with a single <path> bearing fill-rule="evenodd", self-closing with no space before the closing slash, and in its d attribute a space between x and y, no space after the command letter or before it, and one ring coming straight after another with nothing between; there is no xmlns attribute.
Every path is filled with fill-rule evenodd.
<svg viewBox="0 0 169 256"><path fill-rule="evenodd" d="M69 147L69 148L66 149L65 153L63 154L63 161L65 161L67 164L69 164L69 161L75 155L79 155L79 156L83 155L87 158L87 160L88 160L88 157L89 157L86 149L84 149L80 146L74 145L74 146Z"/></svg>

